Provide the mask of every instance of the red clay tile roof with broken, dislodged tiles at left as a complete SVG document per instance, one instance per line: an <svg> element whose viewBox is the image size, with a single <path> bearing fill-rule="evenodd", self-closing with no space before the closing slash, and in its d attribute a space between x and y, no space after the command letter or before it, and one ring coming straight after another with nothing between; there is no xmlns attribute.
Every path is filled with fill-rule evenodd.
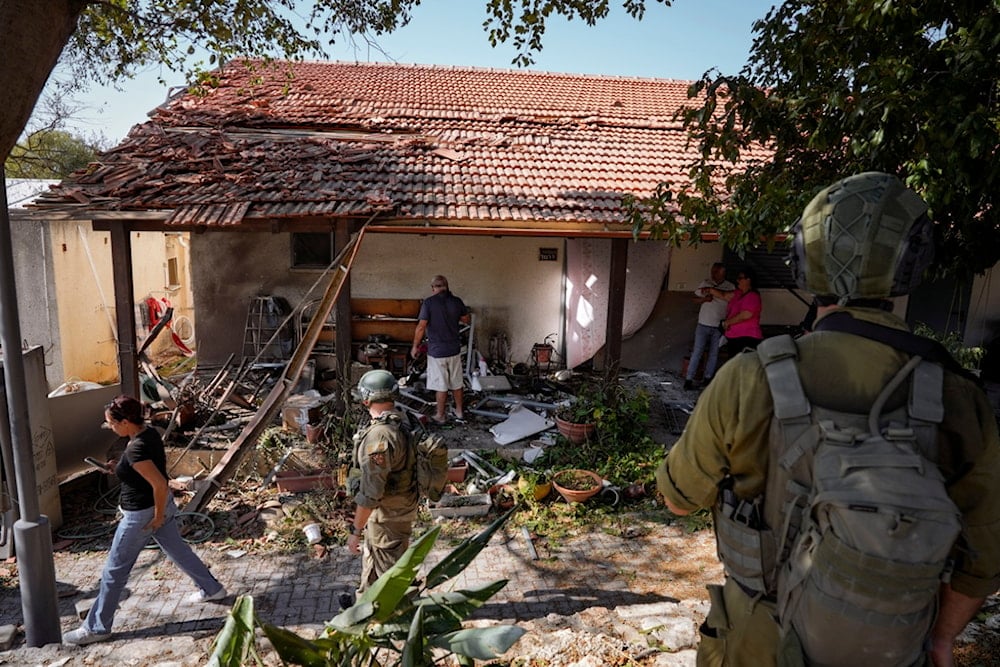
<svg viewBox="0 0 1000 667"><path fill-rule="evenodd" d="M683 81L250 65L231 63L217 85L154 110L39 204L159 211L170 227L379 214L624 229L622 196L686 181L693 157L674 120Z"/></svg>

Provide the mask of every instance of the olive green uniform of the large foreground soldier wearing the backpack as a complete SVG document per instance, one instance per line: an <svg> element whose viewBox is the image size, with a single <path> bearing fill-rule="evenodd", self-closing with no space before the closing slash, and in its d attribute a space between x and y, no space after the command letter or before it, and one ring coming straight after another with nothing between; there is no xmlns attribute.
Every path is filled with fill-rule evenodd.
<svg viewBox="0 0 1000 667"><path fill-rule="evenodd" d="M856 319L906 329L878 309L841 308ZM908 355L887 345L838 331L819 331L798 341L802 385L810 401L834 410L867 413L875 396ZM887 409L906 399L906 385ZM944 421L938 431L940 469L948 495L963 515L951 586L984 597L1000 587L1000 437L993 409L970 380L945 372ZM657 470L660 492L674 506L711 507L726 477L743 499L764 492L771 392L754 352L723 366L702 394L687 428ZM710 587L712 609L702 626L699 665L773 665L778 626L771 601L741 589L732 579Z"/></svg>

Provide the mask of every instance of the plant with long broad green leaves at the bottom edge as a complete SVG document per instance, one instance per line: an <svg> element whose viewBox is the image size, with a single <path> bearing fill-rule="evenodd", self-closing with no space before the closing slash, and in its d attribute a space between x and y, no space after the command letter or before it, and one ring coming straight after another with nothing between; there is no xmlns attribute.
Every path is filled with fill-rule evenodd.
<svg viewBox="0 0 1000 667"><path fill-rule="evenodd" d="M506 652L524 630L513 625L463 628L462 622L507 585L506 579L478 588L434 592L468 567L504 524L507 512L475 537L466 538L417 584L417 573L430 553L440 526L422 535L349 609L326 624L320 637L309 640L290 630L253 617L252 601L241 596L226 626L216 637L212 666L236 667L253 655L254 624L260 625L283 661L294 665L363 667L431 665L441 652L460 664L491 660ZM438 655L435 657L435 652Z"/></svg>

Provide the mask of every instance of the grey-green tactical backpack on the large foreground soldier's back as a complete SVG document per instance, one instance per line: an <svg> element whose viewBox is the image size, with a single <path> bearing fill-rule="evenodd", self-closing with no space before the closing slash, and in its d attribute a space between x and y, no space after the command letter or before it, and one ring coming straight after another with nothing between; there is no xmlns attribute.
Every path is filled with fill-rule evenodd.
<svg viewBox="0 0 1000 667"><path fill-rule="evenodd" d="M943 368L911 357L867 415L810 404L790 336L757 348L774 401L767 488L717 507L719 555L774 599L779 665L919 664L960 513L937 465ZM885 412L909 380L909 401Z"/></svg>

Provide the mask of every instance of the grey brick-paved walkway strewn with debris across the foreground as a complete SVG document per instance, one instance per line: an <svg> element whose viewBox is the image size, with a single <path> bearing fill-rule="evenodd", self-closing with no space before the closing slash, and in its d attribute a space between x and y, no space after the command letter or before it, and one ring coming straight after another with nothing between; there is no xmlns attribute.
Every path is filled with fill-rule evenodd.
<svg viewBox="0 0 1000 667"><path fill-rule="evenodd" d="M657 555L676 552L678 540L703 541L711 536L683 536L676 529L660 528L635 536L594 532L559 545L552 554L540 547L540 558L534 560L521 530L506 527L493 536L456 585L509 580L476 613L474 618L484 621L530 623L553 614L570 616L595 607L628 614L626 609L637 605L658 606L662 614L662 605L678 606L678 598L651 592L662 582L647 581L648 575L640 572L648 569ZM470 533L475 530L470 527ZM444 541L442 537L427 563L436 563L447 553L450 546ZM127 597L116 618L114 641L83 649L27 649L23 637L19 637L13 650L0 652L0 664L201 665L235 594L253 595L257 614L265 622L303 633L318 632L326 620L339 613L337 595L353 590L360 575L360 559L343 547L334 546L322 557L306 552L240 555L218 542L199 545L197 550L234 594L221 604L185 602L193 591L191 582L158 550L146 550L129 579ZM57 553L64 633L79 624L75 605L94 594L105 555L104 551ZM0 625L19 624L20 605L19 591L3 590ZM685 609L678 606L675 611L690 615L690 605ZM687 625L693 629L694 623L692 617ZM154 652L143 657L150 643Z"/></svg>

